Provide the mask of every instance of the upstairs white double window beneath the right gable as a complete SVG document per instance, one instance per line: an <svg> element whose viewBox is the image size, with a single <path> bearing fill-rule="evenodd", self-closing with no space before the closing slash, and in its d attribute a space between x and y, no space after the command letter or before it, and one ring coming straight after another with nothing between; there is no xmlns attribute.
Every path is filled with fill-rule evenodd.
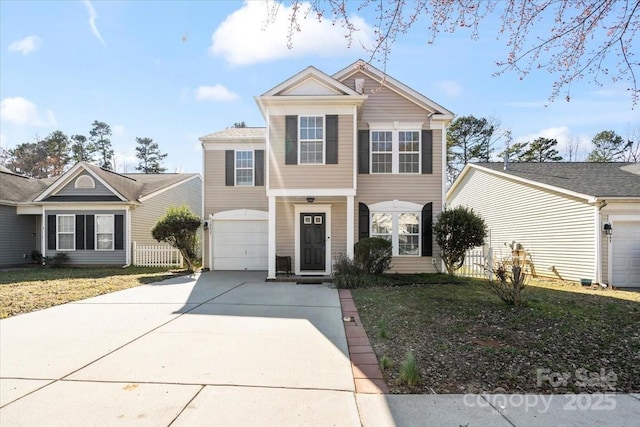
<svg viewBox="0 0 640 427"><path fill-rule="evenodd" d="M420 131L371 131L371 173L420 173Z"/></svg>

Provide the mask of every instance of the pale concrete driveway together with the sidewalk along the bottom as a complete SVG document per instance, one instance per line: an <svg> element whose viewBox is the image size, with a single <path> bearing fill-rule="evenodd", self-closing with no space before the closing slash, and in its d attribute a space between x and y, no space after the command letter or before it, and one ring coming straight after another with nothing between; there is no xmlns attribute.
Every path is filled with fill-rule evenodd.
<svg viewBox="0 0 640 427"><path fill-rule="evenodd" d="M356 392L338 292L203 273L0 320L0 426L637 425L640 395L540 412ZM352 346L353 348L353 346ZM498 396L499 397L499 396ZM509 398L509 396L506 396ZM504 403L504 404L503 404ZM531 402L532 403L532 402ZM606 410L608 408L608 410Z"/></svg>

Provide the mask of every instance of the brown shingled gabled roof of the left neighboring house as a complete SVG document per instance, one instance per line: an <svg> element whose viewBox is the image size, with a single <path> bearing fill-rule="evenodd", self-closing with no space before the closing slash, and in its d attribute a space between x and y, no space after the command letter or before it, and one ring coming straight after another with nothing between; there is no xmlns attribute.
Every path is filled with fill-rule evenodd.
<svg viewBox="0 0 640 427"><path fill-rule="evenodd" d="M199 177L197 173L119 174L86 162L75 164L59 177L46 179L27 178L0 171L0 200L16 203L47 201L48 197L55 195L56 191L66 186L83 171L104 184L123 203L139 203L141 198ZM63 200L60 199L60 201Z"/></svg>

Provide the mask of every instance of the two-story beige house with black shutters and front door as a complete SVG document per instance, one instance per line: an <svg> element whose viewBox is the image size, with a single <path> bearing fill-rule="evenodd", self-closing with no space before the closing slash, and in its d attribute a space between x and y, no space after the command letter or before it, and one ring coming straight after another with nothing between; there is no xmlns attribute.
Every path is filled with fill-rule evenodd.
<svg viewBox="0 0 640 427"><path fill-rule="evenodd" d="M278 255L295 274L329 275L378 236L391 271L435 271L453 113L363 61L332 76L308 67L256 102L265 128L200 138L206 267L274 278Z"/></svg>

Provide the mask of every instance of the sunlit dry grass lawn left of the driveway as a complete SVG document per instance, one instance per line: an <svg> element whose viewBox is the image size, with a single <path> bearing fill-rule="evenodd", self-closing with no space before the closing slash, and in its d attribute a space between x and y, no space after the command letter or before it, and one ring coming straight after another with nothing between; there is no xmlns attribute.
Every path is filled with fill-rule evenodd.
<svg viewBox="0 0 640 427"><path fill-rule="evenodd" d="M184 274L170 268L21 268L0 271L0 319Z"/></svg>

